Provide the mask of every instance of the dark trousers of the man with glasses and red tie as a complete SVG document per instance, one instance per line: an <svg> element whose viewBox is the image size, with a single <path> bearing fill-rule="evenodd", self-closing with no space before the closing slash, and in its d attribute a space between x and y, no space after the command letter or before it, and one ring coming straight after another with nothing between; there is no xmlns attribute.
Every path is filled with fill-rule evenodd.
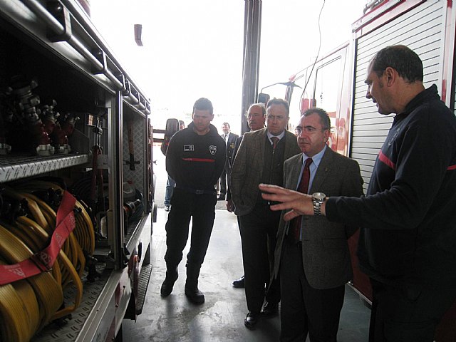
<svg viewBox="0 0 456 342"><path fill-rule="evenodd" d="M302 264L301 243L285 239L280 263L280 341L336 342L345 286L314 289Z"/></svg>

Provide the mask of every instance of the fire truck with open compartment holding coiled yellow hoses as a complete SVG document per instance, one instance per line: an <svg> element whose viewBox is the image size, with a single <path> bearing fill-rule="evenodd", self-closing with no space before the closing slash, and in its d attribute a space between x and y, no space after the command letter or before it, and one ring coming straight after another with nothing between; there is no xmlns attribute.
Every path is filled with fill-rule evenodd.
<svg viewBox="0 0 456 342"><path fill-rule="evenodd" d="M0 341L114 341L142 311L150 100L84 0L0 0Z"/></svg>

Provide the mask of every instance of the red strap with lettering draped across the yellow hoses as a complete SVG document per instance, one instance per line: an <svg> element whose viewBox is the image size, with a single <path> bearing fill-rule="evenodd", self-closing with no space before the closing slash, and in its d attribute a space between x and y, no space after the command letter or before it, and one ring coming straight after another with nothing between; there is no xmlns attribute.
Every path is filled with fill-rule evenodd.
<svg viewBox="0 0 456 342"><path fill-rule="evenodd" d="M76 198L68 191L64 192L62 202L57 210L56 230L52 234L48 247L17 264L0 265L0 285L10 284L13 281L26 279L43 271L51 270L63 242L76 227L73 213L74 204L76 204Z"/></svg>

